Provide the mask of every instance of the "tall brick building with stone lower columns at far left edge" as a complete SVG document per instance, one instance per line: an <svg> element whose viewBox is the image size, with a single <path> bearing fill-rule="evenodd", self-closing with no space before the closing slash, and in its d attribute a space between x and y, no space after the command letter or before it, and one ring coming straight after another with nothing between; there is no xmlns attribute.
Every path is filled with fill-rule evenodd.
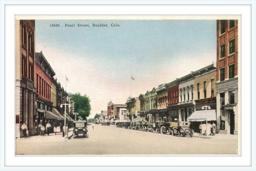
<svg viewBox="0 0 256 171"><path fill-rule="evenodd" d="M15 132L23 137L20 127L28 126L29 135L36 133L35 117L35 20L15 20Z"/></svg>

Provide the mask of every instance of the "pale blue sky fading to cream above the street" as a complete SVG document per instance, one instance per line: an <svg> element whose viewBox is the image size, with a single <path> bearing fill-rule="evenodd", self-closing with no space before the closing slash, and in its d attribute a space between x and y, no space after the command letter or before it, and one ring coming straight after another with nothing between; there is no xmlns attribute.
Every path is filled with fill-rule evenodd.
<svg viewBox="0 0 256 171"><path fill-rule="evenodd" d="M216 20L36 20L35 50L64 88L67 75L67 92L90 96L93 118L110 100L126 103L131 75L137 97L216 62L216 35Z"/></svg>

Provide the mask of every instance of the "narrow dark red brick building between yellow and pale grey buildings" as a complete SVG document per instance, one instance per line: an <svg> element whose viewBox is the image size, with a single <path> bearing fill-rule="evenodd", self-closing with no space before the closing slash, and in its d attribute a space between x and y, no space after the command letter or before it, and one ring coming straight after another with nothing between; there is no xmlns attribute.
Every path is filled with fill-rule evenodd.
<svg viewBox="0 0 256 171"><path fill-rule="evenodd" d="M178 122L179 121L179 85L178 81L174 80L171 83L168 83L168 118L169 122Z"/></svg>

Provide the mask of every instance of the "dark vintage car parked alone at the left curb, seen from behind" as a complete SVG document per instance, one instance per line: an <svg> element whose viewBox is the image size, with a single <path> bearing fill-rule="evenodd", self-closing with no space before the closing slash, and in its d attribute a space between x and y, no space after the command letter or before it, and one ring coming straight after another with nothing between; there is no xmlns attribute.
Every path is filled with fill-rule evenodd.
<svg viewBox="0 0 256 171"><path fill-rule="evenodd" d="M73 121L73 136L76 137L86 137L88 138L87 134L87 121Z"/></svg>

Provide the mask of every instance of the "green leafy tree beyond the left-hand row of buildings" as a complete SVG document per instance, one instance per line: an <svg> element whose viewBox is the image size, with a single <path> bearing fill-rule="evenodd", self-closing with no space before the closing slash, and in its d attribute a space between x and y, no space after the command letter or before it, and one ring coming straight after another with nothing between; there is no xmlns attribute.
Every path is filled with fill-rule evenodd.
<svg viewBox="0 0 256 171"><path fill-rule="evenodd" d="M79 116L87 121L87 117L91 114L90 98L86 94L81 96L80 93L69 93L69 97L74 101L74 112L77 112Z"/></svg>

